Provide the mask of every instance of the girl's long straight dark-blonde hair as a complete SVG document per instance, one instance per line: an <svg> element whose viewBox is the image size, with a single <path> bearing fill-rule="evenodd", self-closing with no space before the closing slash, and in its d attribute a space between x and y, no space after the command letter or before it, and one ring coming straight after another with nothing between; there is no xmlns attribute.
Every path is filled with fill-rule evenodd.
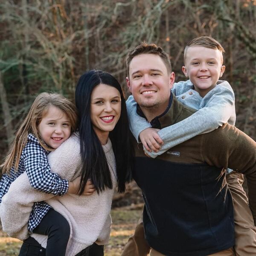
<svg viewBox="0 0 256 256"><path fill-rule="evenodd" d="M77 124L77 111L75 105L67 98L57 93L40 93L33 102L29 113L20 125L12 146L4 160L4 163L0 166L3 168L3 173L9 173L12 166L14 166L15 171L17 171L20 161L20 156L25 147L28 134L33 134L39 141L40 145L48 150L52 151L44 141L41 139L38 133L38 125L40 124L42 118L47 113L50 106L55 106L63 111L67 117L70 119L71 132L76 130Z"/></svg>

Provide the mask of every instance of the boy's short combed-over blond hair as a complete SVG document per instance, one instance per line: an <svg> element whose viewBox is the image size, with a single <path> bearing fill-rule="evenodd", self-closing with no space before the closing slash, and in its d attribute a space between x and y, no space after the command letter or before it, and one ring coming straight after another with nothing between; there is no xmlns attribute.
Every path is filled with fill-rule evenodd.
<svg viewBox="0 0 256 256"><path fill-rule="evenodd" d="M189 47L192 46L202 46L210 49L217 49L219 50L222 54L222 62L223 62L223 53L225 52L224 48L221 46L221 44L215 40L214 38L210 36L200 36L197 38L192 39L191 41L188 42L188 44L185 47L184 50L184 63L186 60L186 52Z"/></svg>

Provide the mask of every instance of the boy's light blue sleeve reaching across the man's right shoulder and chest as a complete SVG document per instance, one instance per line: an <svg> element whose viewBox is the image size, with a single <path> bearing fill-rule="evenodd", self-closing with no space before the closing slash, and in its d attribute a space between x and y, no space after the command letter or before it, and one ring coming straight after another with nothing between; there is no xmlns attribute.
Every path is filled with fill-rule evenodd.
<svg viewBox="0 0 256 256"><path fill-rule="evenodd" d="M158 152L149 152L144 148L150 157L155 158L192 137L213 131L230 119L232 113L235 112L235 96L230 85L227 87L219 84L208 94L208 101L207 98L204 101L205 106L201 104L201 109L197 112L158 131L164 144Z"/></svg>

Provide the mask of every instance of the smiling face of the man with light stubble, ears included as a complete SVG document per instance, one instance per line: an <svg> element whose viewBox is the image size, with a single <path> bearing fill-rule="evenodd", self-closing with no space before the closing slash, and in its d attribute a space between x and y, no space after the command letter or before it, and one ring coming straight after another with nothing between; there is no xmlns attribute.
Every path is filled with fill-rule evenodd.
<svg viewBox="0 0 256 256"><path fill-rule="evenodd" d="M167 71L159 55L145 53L135 56L130 63L129 91L143 108L160 108L165 111L169 104L170 89L175 81L174 73Z"/></svg>

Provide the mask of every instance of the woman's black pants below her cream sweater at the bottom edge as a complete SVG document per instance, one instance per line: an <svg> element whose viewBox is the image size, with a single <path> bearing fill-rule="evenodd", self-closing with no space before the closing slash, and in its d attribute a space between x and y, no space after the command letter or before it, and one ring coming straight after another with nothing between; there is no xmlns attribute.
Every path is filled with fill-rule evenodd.
<svg viewBox="0 0 256 256"><path fill-rule="evenodd" d="M46 256L46 250L35 239L29 237L23 242L19 256ZM76 256L104 256L104 246L94 243Z"/></svg>

